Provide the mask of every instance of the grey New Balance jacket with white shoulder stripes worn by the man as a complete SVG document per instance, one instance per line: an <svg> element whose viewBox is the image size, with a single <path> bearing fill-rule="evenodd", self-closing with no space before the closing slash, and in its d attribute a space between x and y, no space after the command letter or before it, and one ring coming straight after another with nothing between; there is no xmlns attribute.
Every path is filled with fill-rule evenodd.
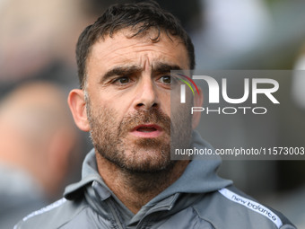
<svg viewBox="0 0 305 229"><path fill-rule="evenodd" d="M210 147L196 133L193 139L196 148ZM178 181L134 215L102 181L92 150L83 163L82 181L68 186L65 198L24 217L14 228L295 228L218 177L220 163L219 158L193 160Z"/></svg>

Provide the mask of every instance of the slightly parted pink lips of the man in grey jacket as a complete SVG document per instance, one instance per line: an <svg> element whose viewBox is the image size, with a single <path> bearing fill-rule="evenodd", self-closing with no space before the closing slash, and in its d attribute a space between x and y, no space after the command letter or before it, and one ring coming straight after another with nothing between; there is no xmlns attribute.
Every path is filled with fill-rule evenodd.
<svg viewBox="0 0 305 229"><path fill-rule="evenodd" d="M163 130L160 126L155 124L144 124L133 128L130 133L135 137L154 138L160 137Z"/></svg>

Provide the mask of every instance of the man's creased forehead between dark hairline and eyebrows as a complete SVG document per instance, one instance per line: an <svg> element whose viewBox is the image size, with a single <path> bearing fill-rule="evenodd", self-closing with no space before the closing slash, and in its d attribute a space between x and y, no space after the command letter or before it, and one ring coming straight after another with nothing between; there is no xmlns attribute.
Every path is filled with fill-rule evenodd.
<svg viewBox="0 0 305 229"><path fill-rule="evenodd" d="M187 48L179 38L161 32L159 39L153 41L158 36L155 30L135 37L132 35L132 31L125 29L93 44L87 60L87 72L97 65L103 69L118 65L147 67L155 62L189 68Z"/></svg>

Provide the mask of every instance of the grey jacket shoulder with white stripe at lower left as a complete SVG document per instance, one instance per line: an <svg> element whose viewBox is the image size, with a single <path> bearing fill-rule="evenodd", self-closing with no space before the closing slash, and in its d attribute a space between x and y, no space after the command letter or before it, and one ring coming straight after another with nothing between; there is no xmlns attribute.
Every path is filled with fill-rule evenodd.
<svg viewBox="0 0 305 229"><path fill-rule="evenodd" d="M88 208L88 205L84 199L80 198L71 201L61 198L47 207L25 216L13 229L61 228L86 208Z"/></svg>

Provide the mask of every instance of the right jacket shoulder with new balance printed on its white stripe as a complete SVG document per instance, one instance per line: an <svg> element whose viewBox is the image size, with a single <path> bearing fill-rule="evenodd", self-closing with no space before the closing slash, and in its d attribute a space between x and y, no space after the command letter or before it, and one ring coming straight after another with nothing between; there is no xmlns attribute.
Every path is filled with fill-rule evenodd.
<svg viewBox="0 0 305 229"><path fill-rule="evenodd" d="M215 228L295 229L283 214L266 207L234 186L205 195L194 206Z"/></svg>

